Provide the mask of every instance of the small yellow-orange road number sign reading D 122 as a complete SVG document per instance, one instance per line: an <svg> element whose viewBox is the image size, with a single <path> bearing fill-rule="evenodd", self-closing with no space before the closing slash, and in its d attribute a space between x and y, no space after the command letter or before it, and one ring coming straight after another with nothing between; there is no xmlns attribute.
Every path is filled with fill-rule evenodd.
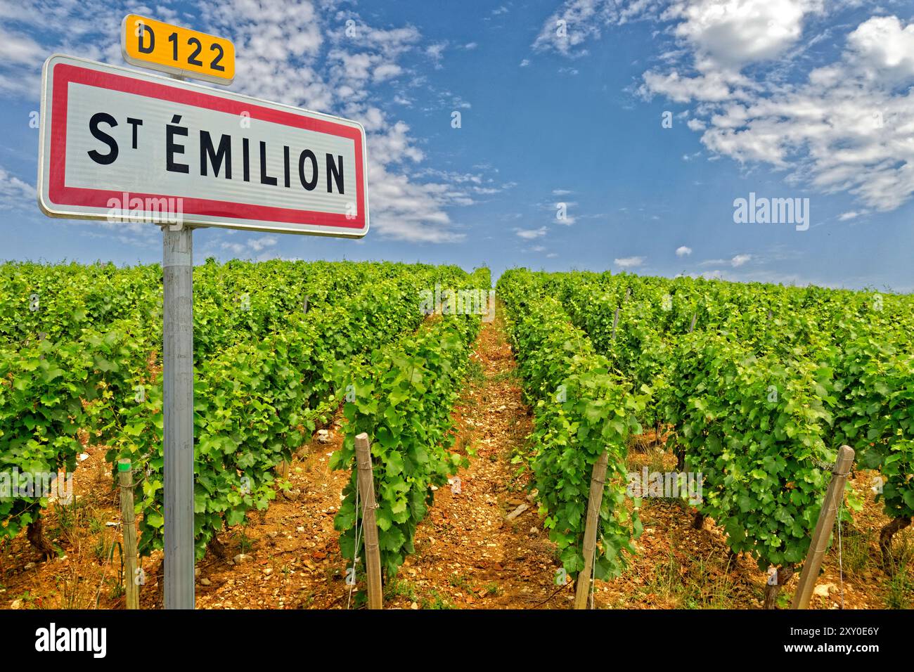
<svg viewBox="0 0 914 672"><path fill-rule="evenodd" d="M235 79L231 40L138 14L123 17L121 50L124 60L143 68L216 84Z"/></svg>

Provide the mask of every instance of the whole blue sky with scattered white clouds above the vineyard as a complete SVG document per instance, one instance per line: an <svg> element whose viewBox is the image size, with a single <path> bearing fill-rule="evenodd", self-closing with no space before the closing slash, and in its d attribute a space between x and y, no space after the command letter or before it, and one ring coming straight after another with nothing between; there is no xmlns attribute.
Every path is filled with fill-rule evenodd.
<svg viewBox="0 0 914 672"><path fill-rule="evenodd" d="M0 259L160 260L152 225L48 219L35 199L41 63L123 65L130 12L233 39L233 91L367 128L364 240L198 230L197 262L914 291L914 3L859 0L5 2ZM808 198L809 228L735 223L750 192Z"/></svg>

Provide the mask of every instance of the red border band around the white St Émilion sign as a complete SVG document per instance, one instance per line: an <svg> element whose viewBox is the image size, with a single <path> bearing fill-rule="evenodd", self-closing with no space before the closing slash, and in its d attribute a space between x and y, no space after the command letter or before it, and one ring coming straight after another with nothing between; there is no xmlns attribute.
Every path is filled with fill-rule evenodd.
<svg viewBox="0 0 914 672"><path fill-rule="evenodd" d="M199 217L221 217L226 219L253 219L266 224L301 224L308 226L321 226L333 229L364 229L365 228L365 182L364 182L364 147L362 133L358 127L346 126L323 119L304 116L295 112L285 112L263 107L256 102L238 101L210 95L204 91L185 89L154 81L134 79L110 72L69 63L55 63L53 65L53 101L51 112L51 142L50 161L48 170L48 199L51 205L66 208L77 206L84 208L108 209L110 198L120 199L123 191L110 191L106 189L89 189L83 187L66 186L66 158L67 158L67 106L69 102L69 84L85 84L111 91L122 91L165 100L171 102L193 105L217 112L238 114L247 112L251 119L279 123L293 128L301 128L317 133L329 133L338 137L349 138L355 144L356 153L356 212L355 218L348 219L339 213L315 212L314 210L300 210L295 208L276 208L273 206L260 206L234 201L221 201L210 198L180 197L183 202L183 214ZM174 194L147 194L131 192L131 197L161 198L176 197ZM240 223L240 222L239 222Z"/></svg>

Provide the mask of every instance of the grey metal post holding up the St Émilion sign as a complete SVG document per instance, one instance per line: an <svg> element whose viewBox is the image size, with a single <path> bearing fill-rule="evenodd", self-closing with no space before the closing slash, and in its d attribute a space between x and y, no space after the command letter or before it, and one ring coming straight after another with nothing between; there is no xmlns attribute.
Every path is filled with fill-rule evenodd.
<svg viewBox="0 0 914 672"><path fill-rule="evenodd" d="M162 240L165 609L193 609L194 232L164 227Z"/></svg>

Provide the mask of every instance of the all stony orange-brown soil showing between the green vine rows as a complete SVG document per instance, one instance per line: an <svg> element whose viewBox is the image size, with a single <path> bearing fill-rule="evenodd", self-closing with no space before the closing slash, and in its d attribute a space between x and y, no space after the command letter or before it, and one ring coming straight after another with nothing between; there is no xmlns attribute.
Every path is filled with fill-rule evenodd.
<svg viewBox="0 0 914 672"><path fill-rule="evenodd" d="M455 450L469 466L450 487L435 493L429 515L417 528L416 552L385 588L386 608L557 609L569 608L573 586L555 584L560 563L528 498L527 474L511 463L526 449L533 419L521 399L515 360L501 311L484 323L475 343L470 374L454 409ZM340 416L327 429L330 443L303 446L290 465L290 494L278 495L262 516L220 537L226 558L212 552L198 563L197 607L201 609L345 609L356 593L345 585L333 518L348 475L330 472L329 455L342 440ZM0 547L0 608L123 608L118 589L120 560L112 542L120 530L116 493L104 462L104 446L88 446L75 473L75 506L52 507L48 538L63 557L41 562L22 534ZM632 471L648 465L674 470L675 458L652 446L632 453ZM877 566L877 530L887 522L869 485L858 472L851 483L865 507L853 528L844 528L843 581L831 549L818 581L826 595L812 608L885 608L914 602L911 562L895 579ZM505 517L526 509L514 520ZM692 529L692 514L679 502L646 499L637 555L621 577L597 581L598 608L758 608L765 575L755 562L727 563L725 535L713 521ZM911 546L912 533L896 544ZM234 563L239 553L250 560ZM147 582L143 608L160 608L161 553L143 560ZM783 591L786 601L796 579ZM357 588L362 586L357 586ZM351 593L351 594L350 594Z"/></svg>

